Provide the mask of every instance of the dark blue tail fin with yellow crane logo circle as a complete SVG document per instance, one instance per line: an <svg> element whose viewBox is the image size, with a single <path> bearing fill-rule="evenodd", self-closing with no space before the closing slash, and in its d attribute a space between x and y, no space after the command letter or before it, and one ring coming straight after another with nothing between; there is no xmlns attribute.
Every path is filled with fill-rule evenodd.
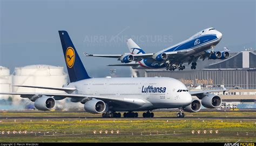
<svg viewBox="0 0 256 146"><path fill-rule="evenodd" d="M62 49L65 56L66 67L69 72L70 82L90 78L77 54L76 48L73 45L68 32L59 31L59 38L62 42Z"/></svg>

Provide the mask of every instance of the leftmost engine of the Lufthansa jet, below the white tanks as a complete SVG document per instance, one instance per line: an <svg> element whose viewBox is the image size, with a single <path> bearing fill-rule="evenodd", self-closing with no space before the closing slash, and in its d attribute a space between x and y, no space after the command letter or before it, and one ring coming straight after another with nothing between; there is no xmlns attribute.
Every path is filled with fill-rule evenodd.
<svg viewBox="0 0 256 146"><path fill-rule="evenodd" d="M49 96L42 96L35 101L35 107L41 111L50 111L55 105L55 99Z"/></svg>

